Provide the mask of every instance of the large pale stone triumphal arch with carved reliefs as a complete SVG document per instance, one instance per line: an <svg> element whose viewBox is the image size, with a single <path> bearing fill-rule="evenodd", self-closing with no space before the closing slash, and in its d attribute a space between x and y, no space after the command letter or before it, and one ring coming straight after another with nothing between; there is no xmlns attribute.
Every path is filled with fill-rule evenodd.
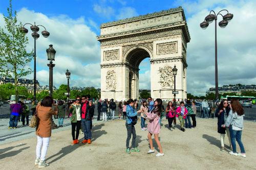
<svg viewBox="0 0 256 170"><path fill-rule="evenodd" d="M153 99L173 99L176 76L177 99L185 99L186 47L190 40L181 7L103 23L101 43L101 99L139 99L139 64L150 58Z"/></svg>

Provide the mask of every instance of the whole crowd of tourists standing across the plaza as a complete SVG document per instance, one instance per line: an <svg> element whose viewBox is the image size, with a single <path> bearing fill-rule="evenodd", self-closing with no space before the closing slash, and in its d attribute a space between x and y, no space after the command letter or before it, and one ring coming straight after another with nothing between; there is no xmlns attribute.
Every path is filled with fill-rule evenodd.
<svg viewBox="0 0 256 170"><path fill-rule="evenodd" d="M46 167L49 164L45 161L46 153L49 147L51 129L52 129L52 116L58 118L59 127L63 125L63 118L65 118L67 103L59 101L57 105L53 104L54 101L50 96L46 96L44 100L39 102L37 106L31 108L34 115L38 117L38 124L36 126L37 145L36 145L36 160L35 165L39 168ZM157 157L164 156L163 149L159 140L159 133L161 130L161 120L165 117L168 120L168 129L173 131L176 126L176 119L179 119L180 130L185 132L186 129L192 129L197 127L196 114L197 106L195 101L186 100L180 102L179 106L176 103L169 101L166 108L163 106L161 99L153 101L149 97L144 101L141 101L139 108L139 101L129 99L128 101L119 102L118 106L113 99L108 101L99 100L97 104L97 120L100 121L100 115L102 113L102 121L107 119L113 120L115 118L115 111L118 109L118 119L125 120L125 127L127 131L126 138L126 153L140 152L138 146L136 146L136 128L137 120L140 117L141 130L147 131L147 138L150 144L148 154L154 153L152 136L154 134L155 141L157 143L159 153ZM206 102L205 102L206 103ZM208 115L208 106L202 102L203 115ZM10 106L11 116L9 129L15 129L20 116L22 116L23 125L25 125L25 118L27 125L29 124L29 107L18 102ZM79 143L79 132L84 134L82 143L92 143L92 119L94 116L95 106L92 101L89 101L87 95L77 96L74 103L70 104L68 108L69 119L71 121L71 134L72 143ZM202 117L204 117L202 116ZM243 142L241 140L243 131L243 116L244 110L238 100L231 100L228 103L227 100L223 100L218 105L215 116L218 117L218 133L220 133L220 145L221 151L225 151L224 138L225 134L229 140L229 148L232 150L229 154L234 156L246 157ZM147 122L147 123L146 123ZM130 140L132 138L132 145L130 147ZM241 153L236 150L236 141L239 144Z"/></svg>

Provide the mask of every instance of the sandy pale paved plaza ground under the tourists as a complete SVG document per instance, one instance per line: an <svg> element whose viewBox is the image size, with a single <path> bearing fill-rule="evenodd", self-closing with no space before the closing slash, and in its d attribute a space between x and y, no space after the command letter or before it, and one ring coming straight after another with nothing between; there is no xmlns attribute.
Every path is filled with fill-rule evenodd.
<svg viewBox="0 0 256 170"><path fill-rule="evenodd" d="M3 122L1 119L1 169L37 169L34 166L34 129L25 127L10 130L9 135L3 134L6 129ZM165 155L156 157L155 154L147 154L147 132L140 130L140 121L136 125L136 143L141 152L126 154L125 120L94 122L92 143L72 145L71 126L66 119L64 128L53 130L47 153L50 166L46 169L256 169L256 132L253 130L256 123L244 122L243 142L247 157L242 158L220 151L217 119L197 118L197 128L186 132L179 129L169 131L167 121L163 119L162 122L160 141ZM82 137L80 134L79 139ZM228 145L227 138L225 144ZM156 143L154 145L157 146Z"/></svg>

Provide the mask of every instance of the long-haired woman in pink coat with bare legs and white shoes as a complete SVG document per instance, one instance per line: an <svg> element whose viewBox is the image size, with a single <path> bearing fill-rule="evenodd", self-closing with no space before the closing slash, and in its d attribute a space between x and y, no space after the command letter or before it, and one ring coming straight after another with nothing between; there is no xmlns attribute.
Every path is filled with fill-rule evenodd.
<svg viewBox="0 0 256 170"><path fill-rule="evenodd" d="M160 133L160 124L159 124L159 119L162 111L162 100L161 99L156 99L155 101L155 108L152 109L151 112L147 113L147 119L150 120L147 124L147 138L148 141L150 141L150 150L147 152L148 154L154 153L154 148L153 148L153 140L152 140L152 134L154 134L155 141L157 142L159 153L156 155L158 156L164 156L163 150L161 143L158 139L158 134Z"/></svg>

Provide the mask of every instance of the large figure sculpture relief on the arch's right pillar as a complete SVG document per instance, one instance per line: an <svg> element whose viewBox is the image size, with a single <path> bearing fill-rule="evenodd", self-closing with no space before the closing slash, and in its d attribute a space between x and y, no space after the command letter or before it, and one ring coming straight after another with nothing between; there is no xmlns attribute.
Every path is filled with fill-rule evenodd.
<svg viewBox="0 0 256 170"><path fill-rule="evenodd" d="M173 88L174 76L173 68L170 66L164 66L159 68L160 81L162 88Z"/></svg>

